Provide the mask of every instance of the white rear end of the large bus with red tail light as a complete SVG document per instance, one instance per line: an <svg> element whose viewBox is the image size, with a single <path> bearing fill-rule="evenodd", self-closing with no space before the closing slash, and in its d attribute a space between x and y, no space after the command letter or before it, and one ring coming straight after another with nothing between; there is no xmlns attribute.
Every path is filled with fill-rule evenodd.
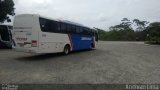
<svg viewBox="0 0 160 90"><path fill-rule="evenodd" d="M39 53L38 33L39 33L38 15L18 15L14 19L13 39L15 41L15 50Z"/></svg>

